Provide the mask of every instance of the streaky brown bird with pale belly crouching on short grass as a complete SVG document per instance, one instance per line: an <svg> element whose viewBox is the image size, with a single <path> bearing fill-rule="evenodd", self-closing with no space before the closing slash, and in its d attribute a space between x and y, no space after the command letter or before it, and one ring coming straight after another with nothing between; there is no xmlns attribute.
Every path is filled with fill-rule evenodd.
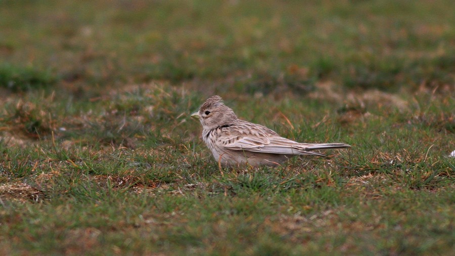
<svg viewBox="0 0 455 256"><path fill-rule="evenodd" d="M191 117L202 124L202 139L223 167L278 166L295 155L326 156L313 150L350 148L346 143L299 143L267 127L237 118L221 97L208 98Z"/></svg>

